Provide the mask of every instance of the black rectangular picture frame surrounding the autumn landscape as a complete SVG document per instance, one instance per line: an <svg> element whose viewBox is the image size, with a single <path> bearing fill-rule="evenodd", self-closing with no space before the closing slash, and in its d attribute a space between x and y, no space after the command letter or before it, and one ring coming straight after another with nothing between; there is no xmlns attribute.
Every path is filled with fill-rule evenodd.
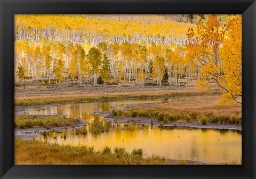
<svg viewBox="0 0 256 179"><path fill-rule="evenodd" d="M255 1L0 0L0 12L1 178L255 178ZM242 165L14 165L14 14L242 14Z"/></svg>

